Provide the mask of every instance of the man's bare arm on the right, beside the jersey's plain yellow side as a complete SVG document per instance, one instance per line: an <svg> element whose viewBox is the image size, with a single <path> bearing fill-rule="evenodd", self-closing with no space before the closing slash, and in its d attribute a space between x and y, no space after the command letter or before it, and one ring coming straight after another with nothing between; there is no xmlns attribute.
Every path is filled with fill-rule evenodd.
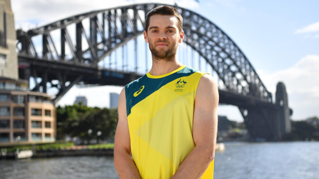
<svg viewBox="0 0 319 179"><path fill-rule="evenodd" d="M193 139L196 147L188 154L172 179L200 178L215 156L219 94L211 75L204 74L194 102Z"/></svg>

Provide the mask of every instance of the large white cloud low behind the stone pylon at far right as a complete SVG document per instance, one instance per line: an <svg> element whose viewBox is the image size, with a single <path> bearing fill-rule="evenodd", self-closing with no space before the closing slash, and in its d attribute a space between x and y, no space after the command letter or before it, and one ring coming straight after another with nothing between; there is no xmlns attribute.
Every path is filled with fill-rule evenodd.
<svg viewBox="0 0 319 179"><path fill-rule="evenodd" d="M285 84L288 104L294 111L292 118L319 116L319 55L307 55L292 67L274 73L264 70L257 70L257 73L273 98L277 83Z"/></svg>

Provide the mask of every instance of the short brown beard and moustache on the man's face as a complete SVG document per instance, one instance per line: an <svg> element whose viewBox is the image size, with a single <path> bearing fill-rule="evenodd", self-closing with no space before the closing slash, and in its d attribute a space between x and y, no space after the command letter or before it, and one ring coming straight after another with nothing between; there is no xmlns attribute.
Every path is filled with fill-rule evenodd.
<svg viewBox="0 0 319 179"><path fill-rule="evenodd" d="M165 50L164 48L159 48L158 50L155 49L156 45L158 43L166 43L168 44L168 49ZM169 44L168 40L157 40L155 43L152 43L152 41L149 40L148 47L150 48L150 51L152 53L152 56L154 60L160 61L173 61L177 52L178 42L174 41L173 44Z"/></svg>

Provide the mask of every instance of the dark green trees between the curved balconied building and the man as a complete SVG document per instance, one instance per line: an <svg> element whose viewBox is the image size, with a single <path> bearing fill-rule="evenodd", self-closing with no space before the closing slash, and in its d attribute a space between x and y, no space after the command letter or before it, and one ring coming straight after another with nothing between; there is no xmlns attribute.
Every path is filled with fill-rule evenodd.
<svg viewBox="0 0 319 179"><path fill-rule="evenodd" d="M112 140L118 121L117 109L100 109L74 104L57 107L57 139L69 135L82 140ZM89 134L88 130L92 129ZM102 134L97 136L97 132Z"/></svg>

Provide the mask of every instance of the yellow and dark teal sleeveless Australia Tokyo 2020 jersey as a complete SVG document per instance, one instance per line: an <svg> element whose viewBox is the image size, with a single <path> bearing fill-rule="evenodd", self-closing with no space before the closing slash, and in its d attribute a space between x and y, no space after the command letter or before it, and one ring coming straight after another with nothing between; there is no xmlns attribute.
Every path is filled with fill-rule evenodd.
<svg viewBox="0 0 319 179"><path fill-rule="evenodd" d="M171 178L194 149L194 99L203 74L183 65L125 86L131 154L142 179ZM213 170L214 160L201 179L212 179Z"/></svg>

